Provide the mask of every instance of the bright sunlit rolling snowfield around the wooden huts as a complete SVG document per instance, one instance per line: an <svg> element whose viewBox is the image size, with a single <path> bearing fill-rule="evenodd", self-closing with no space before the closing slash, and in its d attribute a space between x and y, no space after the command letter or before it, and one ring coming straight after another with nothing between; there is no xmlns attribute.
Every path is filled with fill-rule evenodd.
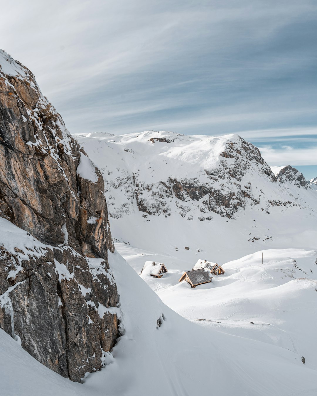
<svg viewBox="0 0 317 396"><path fill-rule="evenodd" d="M163 259L124 244L117 248L138 273L145 259ZM164 257L164 264L168 273L161 279L149 275L150 267L140 276L183 317L219 333L291 350L304 356L307 367L317 369L317 251L258 251L224 263L224 275L195 289L178 282L195 261Z"/></svg>

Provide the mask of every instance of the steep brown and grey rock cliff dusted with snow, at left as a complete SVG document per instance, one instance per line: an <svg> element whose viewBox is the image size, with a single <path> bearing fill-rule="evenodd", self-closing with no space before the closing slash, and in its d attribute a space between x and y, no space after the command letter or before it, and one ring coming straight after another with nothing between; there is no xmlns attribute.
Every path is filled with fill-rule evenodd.
<svg viewBox="0 0 317 396"><path fill-rule="evenodd" d="M80 381L102 367L118 333L104 181L34 75L4 51L0 164L0 216L29 235L0 246L0 327Z"/></svg>

